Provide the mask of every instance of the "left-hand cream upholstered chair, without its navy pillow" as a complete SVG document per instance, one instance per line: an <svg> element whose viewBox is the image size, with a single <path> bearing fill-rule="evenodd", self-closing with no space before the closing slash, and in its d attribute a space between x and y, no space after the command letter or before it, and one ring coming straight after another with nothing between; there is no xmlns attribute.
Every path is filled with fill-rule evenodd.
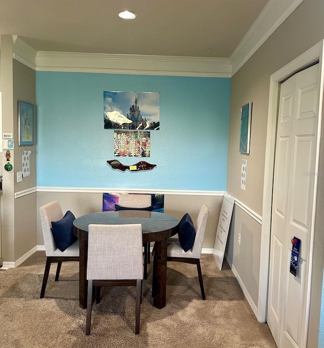
<svg viewBox="0 0 324 348"><path fill-rule="evenodd" d="M79 261L79 240L76 239L75 241L73 241L73 243L70 246L66 247L64 251L61 251L57 247L52 233L52 222L64 221L62 208L58 201L54 201L41 206L39 208L39 213L41 214L45 252L47 256L41 296L39 296L40 298L43 298L45 295L51 264L57 262L55 281L58 281L62 262ZM67 214L65 214L65 216L67 216ZM69 224L71 224L71 219L69 219ZM69 226L72 228L71 225Z"/></svg>

